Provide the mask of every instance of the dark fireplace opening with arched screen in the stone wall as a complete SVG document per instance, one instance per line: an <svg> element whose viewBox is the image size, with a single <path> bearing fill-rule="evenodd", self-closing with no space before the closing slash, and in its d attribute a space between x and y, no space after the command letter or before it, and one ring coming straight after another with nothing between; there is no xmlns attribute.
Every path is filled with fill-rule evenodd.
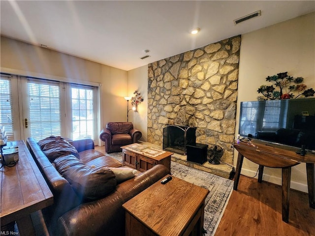
<svg viewBox="0 0 315 236"><path fill-rule="evenodd" d="M163 150L186 155L187 145L196 144L196 128L166 125L163 127Z"/></svg>

